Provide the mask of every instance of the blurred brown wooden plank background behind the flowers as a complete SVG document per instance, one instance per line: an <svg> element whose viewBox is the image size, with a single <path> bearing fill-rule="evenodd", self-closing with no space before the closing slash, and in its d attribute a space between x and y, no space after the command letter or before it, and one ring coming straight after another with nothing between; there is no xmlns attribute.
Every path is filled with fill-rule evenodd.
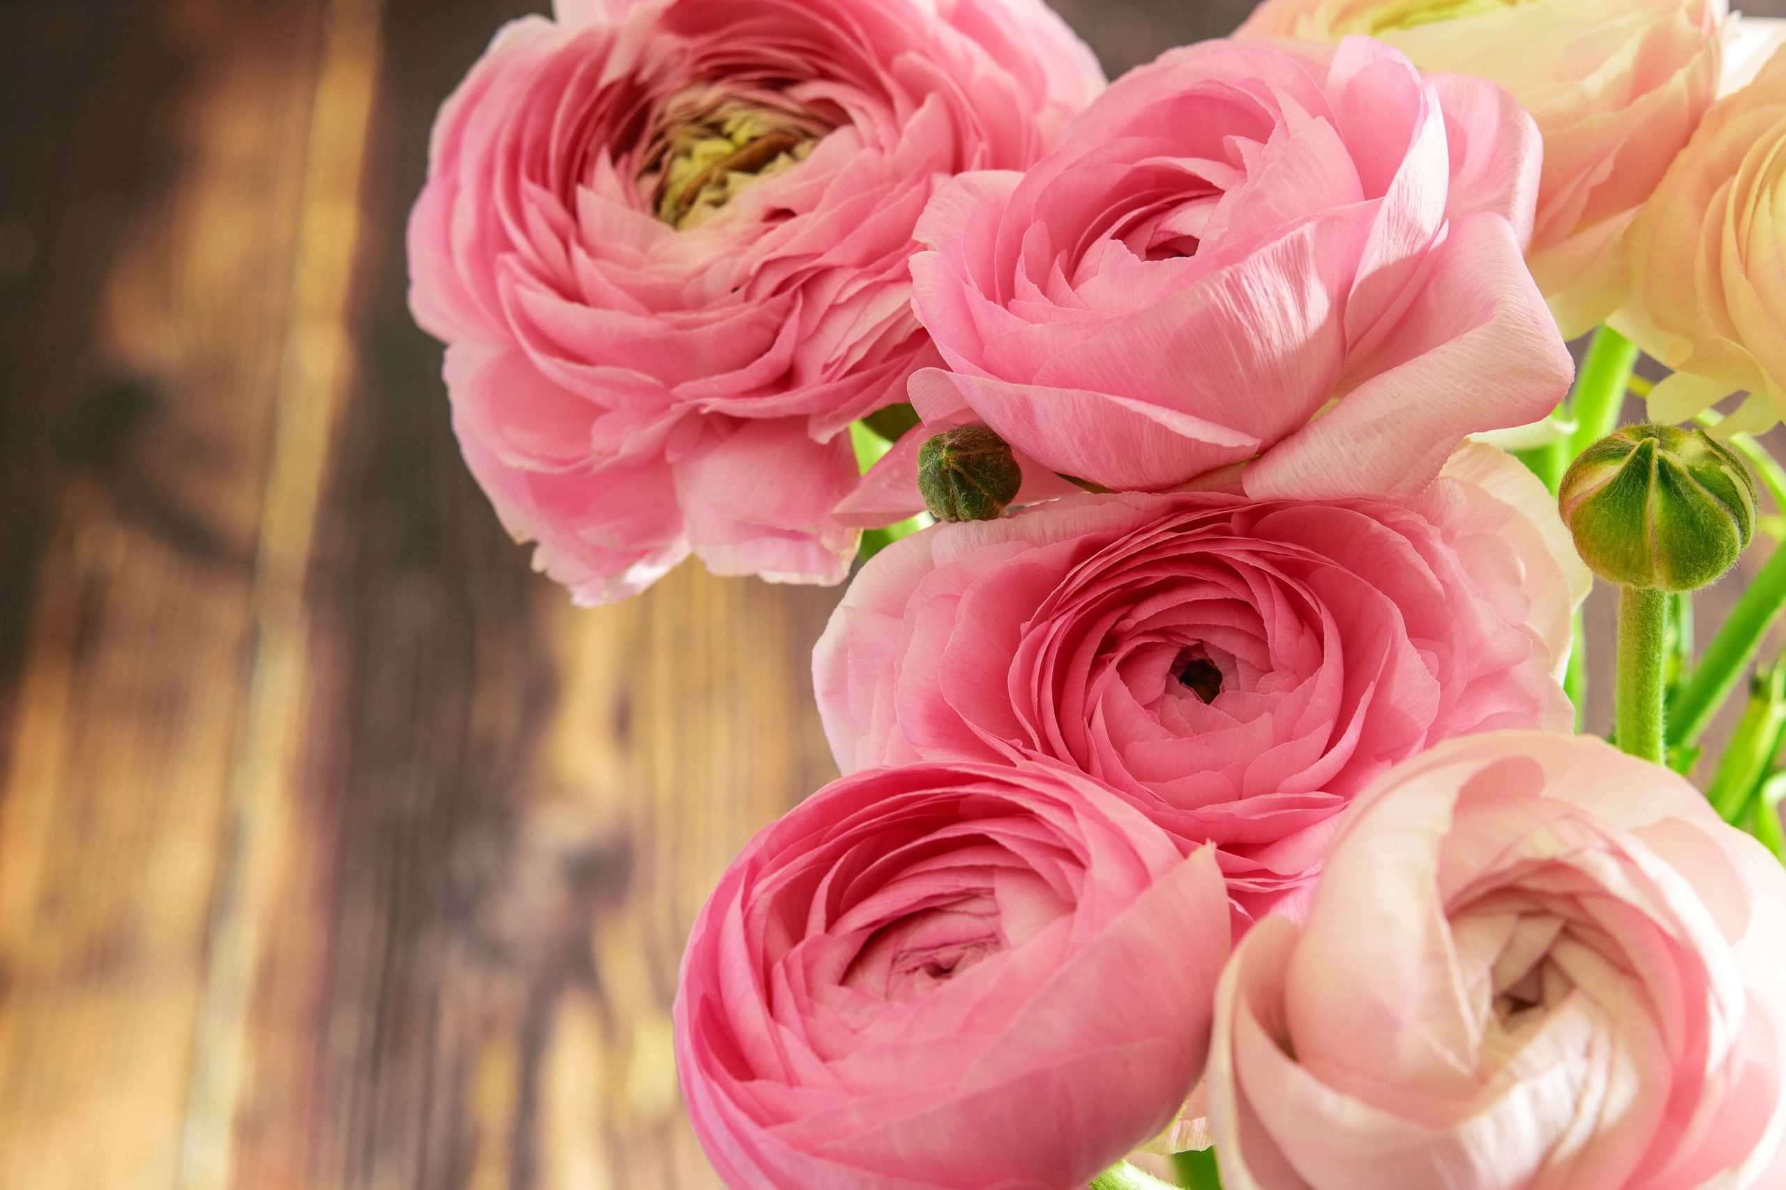
<svg viewBox="0 0 1786 1190"><path fill-rule="evenodd" d="M402 227L529 7L0 0L0 1190L714 1185L677 958L836 592L577 612L461 467Z"/></svg>

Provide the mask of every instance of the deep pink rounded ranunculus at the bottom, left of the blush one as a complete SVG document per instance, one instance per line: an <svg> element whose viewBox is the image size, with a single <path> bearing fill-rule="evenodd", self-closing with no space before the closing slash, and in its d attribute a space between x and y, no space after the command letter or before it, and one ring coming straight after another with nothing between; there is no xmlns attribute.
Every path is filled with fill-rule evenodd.
<svg viewBox="0 0 1786 1190"><path fill-rule="evenodd" d="M739 1190L1084 1186L1200 1078L1227 954L1209 853L1082 774L845 778L695 922L695 1133Z"/></svg>

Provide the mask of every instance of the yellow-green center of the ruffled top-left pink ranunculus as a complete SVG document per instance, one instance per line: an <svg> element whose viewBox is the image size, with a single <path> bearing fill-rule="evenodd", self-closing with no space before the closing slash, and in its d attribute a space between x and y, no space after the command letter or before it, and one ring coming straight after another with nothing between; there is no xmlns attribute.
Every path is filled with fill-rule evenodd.
<svg viewBox="0 0 1786 1190"><path fill-rule="evenodd" d="M805 161L820 136L782 112L722 103L672 127L639 180L657 218L686 230Z"/></svg>

